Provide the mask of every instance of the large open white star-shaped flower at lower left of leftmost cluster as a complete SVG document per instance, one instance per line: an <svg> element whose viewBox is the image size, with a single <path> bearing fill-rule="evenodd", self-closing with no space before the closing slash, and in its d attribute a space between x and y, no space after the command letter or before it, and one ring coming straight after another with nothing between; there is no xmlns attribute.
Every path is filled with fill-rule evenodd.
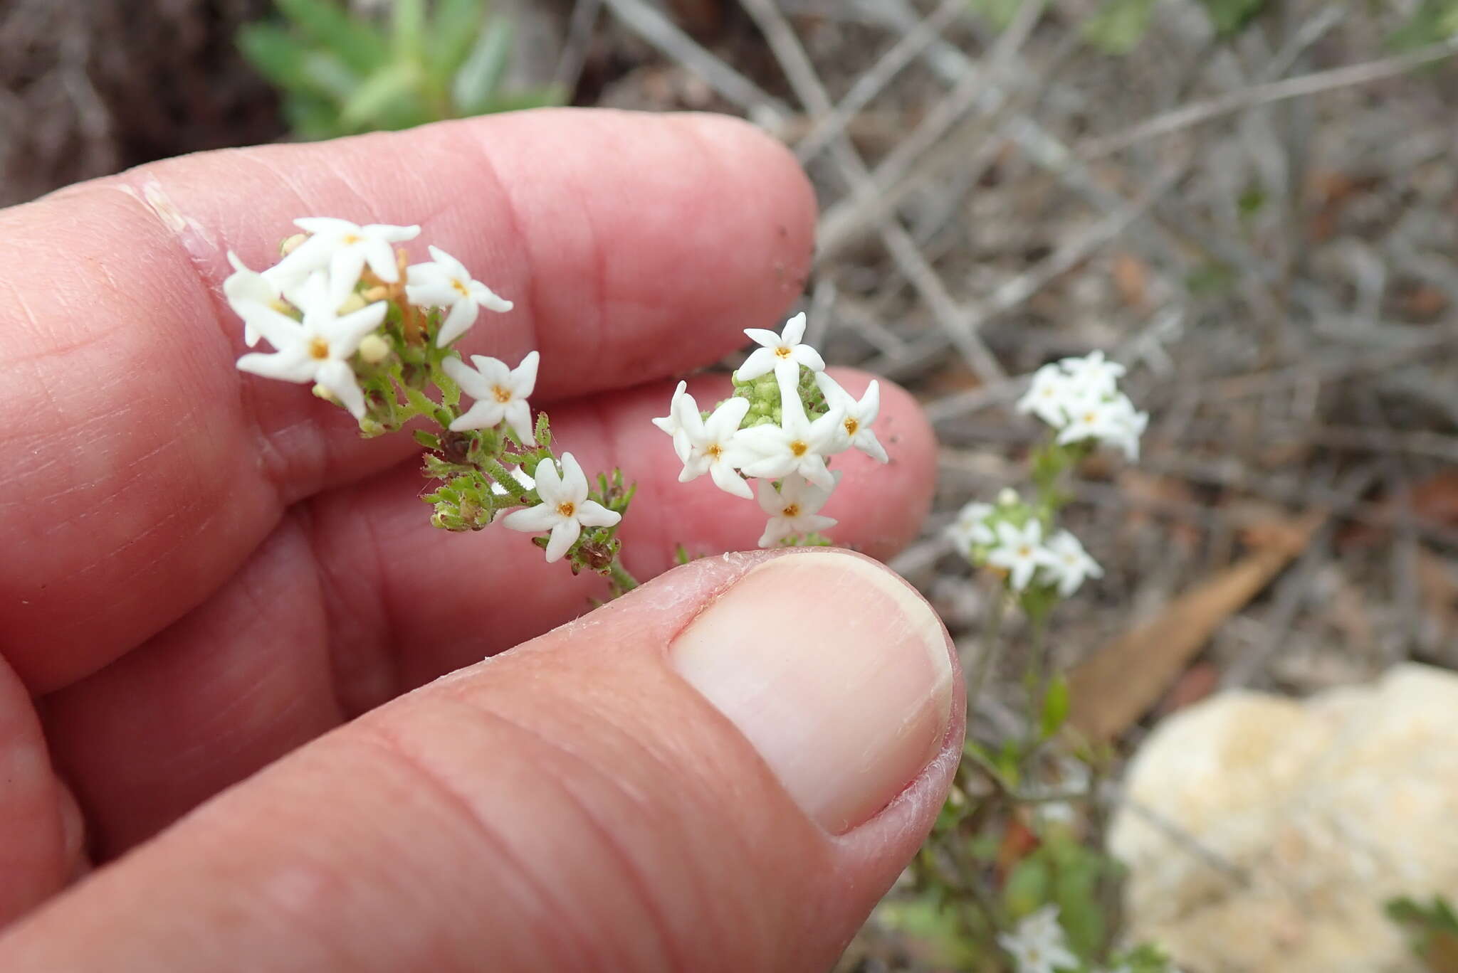
<svg viewBox="0 0 1458 973"><path fill-rule="evenodd" d="M340 304L330 294L324 274L312 275L293 297L303 312L302 322L262 304L251 310L252 326L268 339L274 352L246 354L238 360L238 367L267 379L315 382L356 419L364 418L364 393L348 358L364 335L385 320L385 302L340 316Z"/></svg>

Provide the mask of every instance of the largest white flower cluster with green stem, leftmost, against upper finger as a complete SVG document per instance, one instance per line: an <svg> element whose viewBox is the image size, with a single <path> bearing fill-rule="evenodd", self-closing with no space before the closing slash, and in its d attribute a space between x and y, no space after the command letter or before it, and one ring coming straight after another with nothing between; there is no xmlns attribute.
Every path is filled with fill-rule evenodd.
<svg viewBox="0 0 1458 973"><path fill-rule="evenodd" d="M434 526L480 530L499 519L538 535L547 561L570 554L574 572L586 567L631 587L615 537L631 489L614 473L599 476L593 492L572 453L551 452L547 417L534 424L528 402L541 355L529 351L515 369L488 355L467 364L451 347L483 309L504 313L512 302L440 248L411 264L395 245L414 240L417 226L328 217L295 224L303 233L284 240L283 259L262 272L227 255L233 274L223 293L243 320L243 341L273 348L242 355L238 367L313 383L366 436L429 418L439 433L417 430L416 438L430 450L424 473L442 484L424 498ZM461 408L462 393L474 399L469 408Z"/></svg>

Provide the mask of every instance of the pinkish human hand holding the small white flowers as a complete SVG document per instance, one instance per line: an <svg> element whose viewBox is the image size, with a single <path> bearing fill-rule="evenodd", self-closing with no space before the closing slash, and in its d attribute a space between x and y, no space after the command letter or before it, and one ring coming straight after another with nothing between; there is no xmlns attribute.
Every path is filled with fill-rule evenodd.
<svg viewBox="0 0 1458 973"><path fill-rule="evenodd" d="M935 615L868 559L763 552L496 657L601 580L430 529L407 437L233 369L225 252L267 264L306 213L420 223L516 302L462 350L542 351L557 438L639 481L636 574L763 527L647 422L808 265L809 186L739 122L531 112L0 214L0 969L828 966L955 768ZM882 402L892 463L847 457L831 513L884 556L933 449Z"/></svg>

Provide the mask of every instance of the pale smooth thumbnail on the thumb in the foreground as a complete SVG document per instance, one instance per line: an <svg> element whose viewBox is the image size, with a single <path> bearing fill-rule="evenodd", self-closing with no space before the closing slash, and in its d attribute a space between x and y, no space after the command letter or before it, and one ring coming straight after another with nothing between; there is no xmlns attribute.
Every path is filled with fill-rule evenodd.
<svg viewBox="0 0 1458 973"><path fill-rule="evenodd" d="M843 552L761 564L669 654L834 835L904 791L952 717L940 621L888 570Z"/></svg>

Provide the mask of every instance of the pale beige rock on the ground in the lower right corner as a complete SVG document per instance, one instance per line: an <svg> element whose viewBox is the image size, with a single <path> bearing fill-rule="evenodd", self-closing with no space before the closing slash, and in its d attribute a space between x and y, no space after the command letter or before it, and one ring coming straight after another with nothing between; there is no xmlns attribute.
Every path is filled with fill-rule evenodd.
<svg viewBox="0 0 1458 973"><path fill-rule="evenodd" d="M1126 794L1110 849L1134 939L1198 973L1416 973L1382 903L1458 899L1458 674L1220 693L1150 734Z"/></svg>

